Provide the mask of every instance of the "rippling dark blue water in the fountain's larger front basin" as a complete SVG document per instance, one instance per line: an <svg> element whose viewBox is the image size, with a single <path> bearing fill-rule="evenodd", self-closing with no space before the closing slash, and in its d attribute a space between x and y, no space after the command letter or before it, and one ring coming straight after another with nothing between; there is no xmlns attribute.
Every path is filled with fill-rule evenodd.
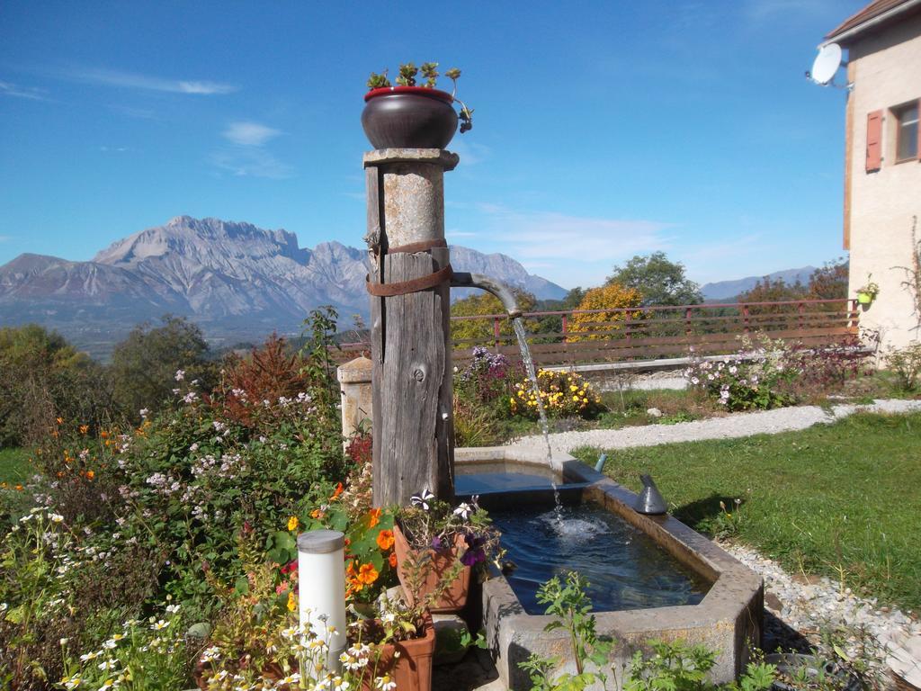
<svg viewBox="0 0 921 691"><path fill-rule="evenodd" d="M529 615L542 615L541 584L577 570L597 612L697 604L710 584L610 511L594 503L490 511L516 568L507 580Z"/></svg>

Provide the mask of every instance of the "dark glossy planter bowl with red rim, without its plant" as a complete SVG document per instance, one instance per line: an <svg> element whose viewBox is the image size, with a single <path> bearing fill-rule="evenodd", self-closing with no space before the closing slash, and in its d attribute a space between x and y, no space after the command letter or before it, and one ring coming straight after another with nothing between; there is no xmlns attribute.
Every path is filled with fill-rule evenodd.
<svg viewBox="0 0 921 691"><path fill-rule="evenodd" d="M375 88L365 102L361 126L375 148L444 148L457 132L454 99L437 88Z"/></svg>

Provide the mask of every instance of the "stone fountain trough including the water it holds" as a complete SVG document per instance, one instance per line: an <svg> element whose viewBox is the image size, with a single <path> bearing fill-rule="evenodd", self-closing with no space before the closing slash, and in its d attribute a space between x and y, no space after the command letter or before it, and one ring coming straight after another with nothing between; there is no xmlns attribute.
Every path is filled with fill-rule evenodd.
<svg viewBox="0 0 921 691"><path fill-rule="evenodd" d="M595 607L598 633L617 641L612 660L616 668L629 662L635 650L648 650L649 640L681 638L718 650L711 679L725 683L738 676L751 648L761 644L764 586L760 576L681 521L637 513L633 492L572 456L560 454L548 463L543 454L505 447L457 449L455 473L456 494L461 498L479 494L481 505L491 511L500 528L506 521L511 521L507 525L512 533L518 530L516 525L544 524L519 544L515 534L508 539L504 534L509 556L517 561L515 550L519 550L525 564L508 578L495 571L483 586L486 639L508 688L530 688L518 663L531 653L564 660L560 671L575 672L565 631L543 630L552 617L540 614L542 606L534 602L533 591L539 580L581 556L578 550L571 556L556 554L580 541L596 552L594 566L589 555L587 569L578 570L594 583L595 591L589 590L593 602L601 603ZM557 503L561 509L556 509ZM562 515L554 516L554 511ZM572 521L567 523L574 528L572 534L555 528L563 523L554 521ZM520 544L540 543L542 533L547 540L557 540L560 549ZM600 540L610 540L614 546L595 544ZM617 544L639 551L621 555ZM624 570L630 560L641 562L634 565L634 576Z"/></svg>

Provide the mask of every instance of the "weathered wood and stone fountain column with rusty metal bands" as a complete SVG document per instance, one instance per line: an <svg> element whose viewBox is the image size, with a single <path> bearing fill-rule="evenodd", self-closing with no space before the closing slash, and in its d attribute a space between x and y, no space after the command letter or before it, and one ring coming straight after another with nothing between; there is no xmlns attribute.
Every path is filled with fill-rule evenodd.
<svg viewBox="0 0 921 691"><path fill-rule="evenodd" d="M453 491L444 173L458 161L432 148L365 155L375 506Z"/></svg>

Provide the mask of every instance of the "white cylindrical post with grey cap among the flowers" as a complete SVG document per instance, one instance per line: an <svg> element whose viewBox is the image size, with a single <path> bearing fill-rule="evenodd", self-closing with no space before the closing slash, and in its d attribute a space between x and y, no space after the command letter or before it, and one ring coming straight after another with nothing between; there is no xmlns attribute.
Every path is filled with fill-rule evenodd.
<svg viewBox="0 0 921 691"><path fill-rule="evenodd" d="M330 644L327 669L340 668L345 650L345 535L317 530L297 535L300 624ZM323 619L325 618L325 621Z"/></svg>

